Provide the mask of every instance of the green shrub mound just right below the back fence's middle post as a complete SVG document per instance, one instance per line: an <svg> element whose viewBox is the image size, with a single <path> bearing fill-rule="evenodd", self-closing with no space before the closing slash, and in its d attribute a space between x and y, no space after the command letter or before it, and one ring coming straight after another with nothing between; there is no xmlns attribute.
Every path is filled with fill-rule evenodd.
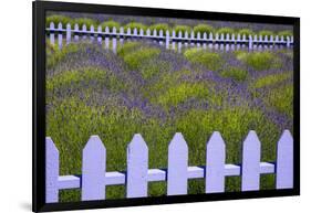
<svg viewBox="0 0 311 213"><path fill-rule="evenodd" d="M222 58L218 53L208 52L205 50L188 49L184 52L184 55L191 63L204 65L210 71L219 70L222 63Z"/></svg>

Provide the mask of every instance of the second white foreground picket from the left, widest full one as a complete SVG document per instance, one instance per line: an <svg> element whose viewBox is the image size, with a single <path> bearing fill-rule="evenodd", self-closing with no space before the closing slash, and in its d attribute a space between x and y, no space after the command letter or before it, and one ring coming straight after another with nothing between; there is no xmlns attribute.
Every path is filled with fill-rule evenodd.
<svg viewBox="0 0 311 213"><path fill-rule="evenodd" d="M106 148L91 136L82 155L82 201L105 199Z"/></svg>

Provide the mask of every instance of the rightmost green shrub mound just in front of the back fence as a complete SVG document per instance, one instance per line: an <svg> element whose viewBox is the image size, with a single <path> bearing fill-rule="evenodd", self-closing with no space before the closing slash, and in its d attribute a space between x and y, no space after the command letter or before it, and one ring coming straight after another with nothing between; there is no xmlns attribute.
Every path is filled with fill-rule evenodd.
<svg viewBox="0 0 311 213"><path fill-rule="evenodd" d="M248 66L256 71L280 68L282 65L277 55L271 52L242 52L237 55L237 58L243 61Z"/></svg>

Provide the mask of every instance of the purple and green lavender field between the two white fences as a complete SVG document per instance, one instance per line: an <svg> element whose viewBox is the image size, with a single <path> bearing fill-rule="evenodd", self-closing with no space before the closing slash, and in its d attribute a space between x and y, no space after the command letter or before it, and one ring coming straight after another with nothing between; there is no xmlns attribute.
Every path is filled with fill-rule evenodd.
<svg viewBox="0 0 311 213"><path fill-rule="evenodd" d="M189 147L189 164L205 163L205 146L220 131L227 162L239 163L251 129L262 141L263 161L276 158L276 141L292 130L291 49L262 52L182 54L141 41L125 42L114 54L99 44L46 45L46 136L60 150L61 174L81 173L81 153L91 135L107 149L107 171L126 170L126 146L142 134L149 168L166 168L175 132ZM189 193L204 193L190 180ZM227 178L238 191L240 178ZM261 175L261 189L274 189L274 175ZM107 199L124 198L125 187L107 187ZM149 195L165 195L166 183L149 183ZM61 192L61 202L80 201L80 190Z"/></svg>

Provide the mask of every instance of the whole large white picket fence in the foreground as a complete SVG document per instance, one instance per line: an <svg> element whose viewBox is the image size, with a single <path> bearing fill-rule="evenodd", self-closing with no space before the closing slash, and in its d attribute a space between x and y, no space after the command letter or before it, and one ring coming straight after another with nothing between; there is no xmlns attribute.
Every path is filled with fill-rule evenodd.
<svg viewBox="0 0 311 213"><path fill-rule="evenodd" d="M206 143L206 166L188 166L188 146L177 132L168 147L167 169L148 169L148 147L139 134L127 146L126 171L106 171L106 149L92 136L82 153L82 174L60 175L59 150L45 139L45 202L59 201L59 190L81 189L82 201L104 200L106 185L126 185L126 198L147 196L148 182L166 181L167 195L187 194L189 179L205 179L205 192L225 192L225 177L241 177L241 191L260 189L260 174L274 173L277 189L293 187L293 139L284 130L277 145L274 162L261 162L261 145L249 131L242 145L240 164L226 163L226 145L215 131ZM64 162L65 163L65 162Z"/></svg>

